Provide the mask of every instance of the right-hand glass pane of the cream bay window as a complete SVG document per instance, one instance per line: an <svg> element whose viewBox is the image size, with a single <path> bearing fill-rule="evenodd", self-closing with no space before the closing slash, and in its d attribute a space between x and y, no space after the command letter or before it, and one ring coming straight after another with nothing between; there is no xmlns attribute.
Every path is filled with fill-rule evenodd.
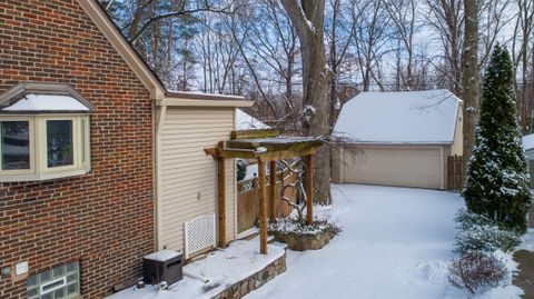
<svg viewBox="0 0 534 299"><path fill-rule="evenodd" d="M47 120L48 167L73 165L72 121Z"/></svg>

